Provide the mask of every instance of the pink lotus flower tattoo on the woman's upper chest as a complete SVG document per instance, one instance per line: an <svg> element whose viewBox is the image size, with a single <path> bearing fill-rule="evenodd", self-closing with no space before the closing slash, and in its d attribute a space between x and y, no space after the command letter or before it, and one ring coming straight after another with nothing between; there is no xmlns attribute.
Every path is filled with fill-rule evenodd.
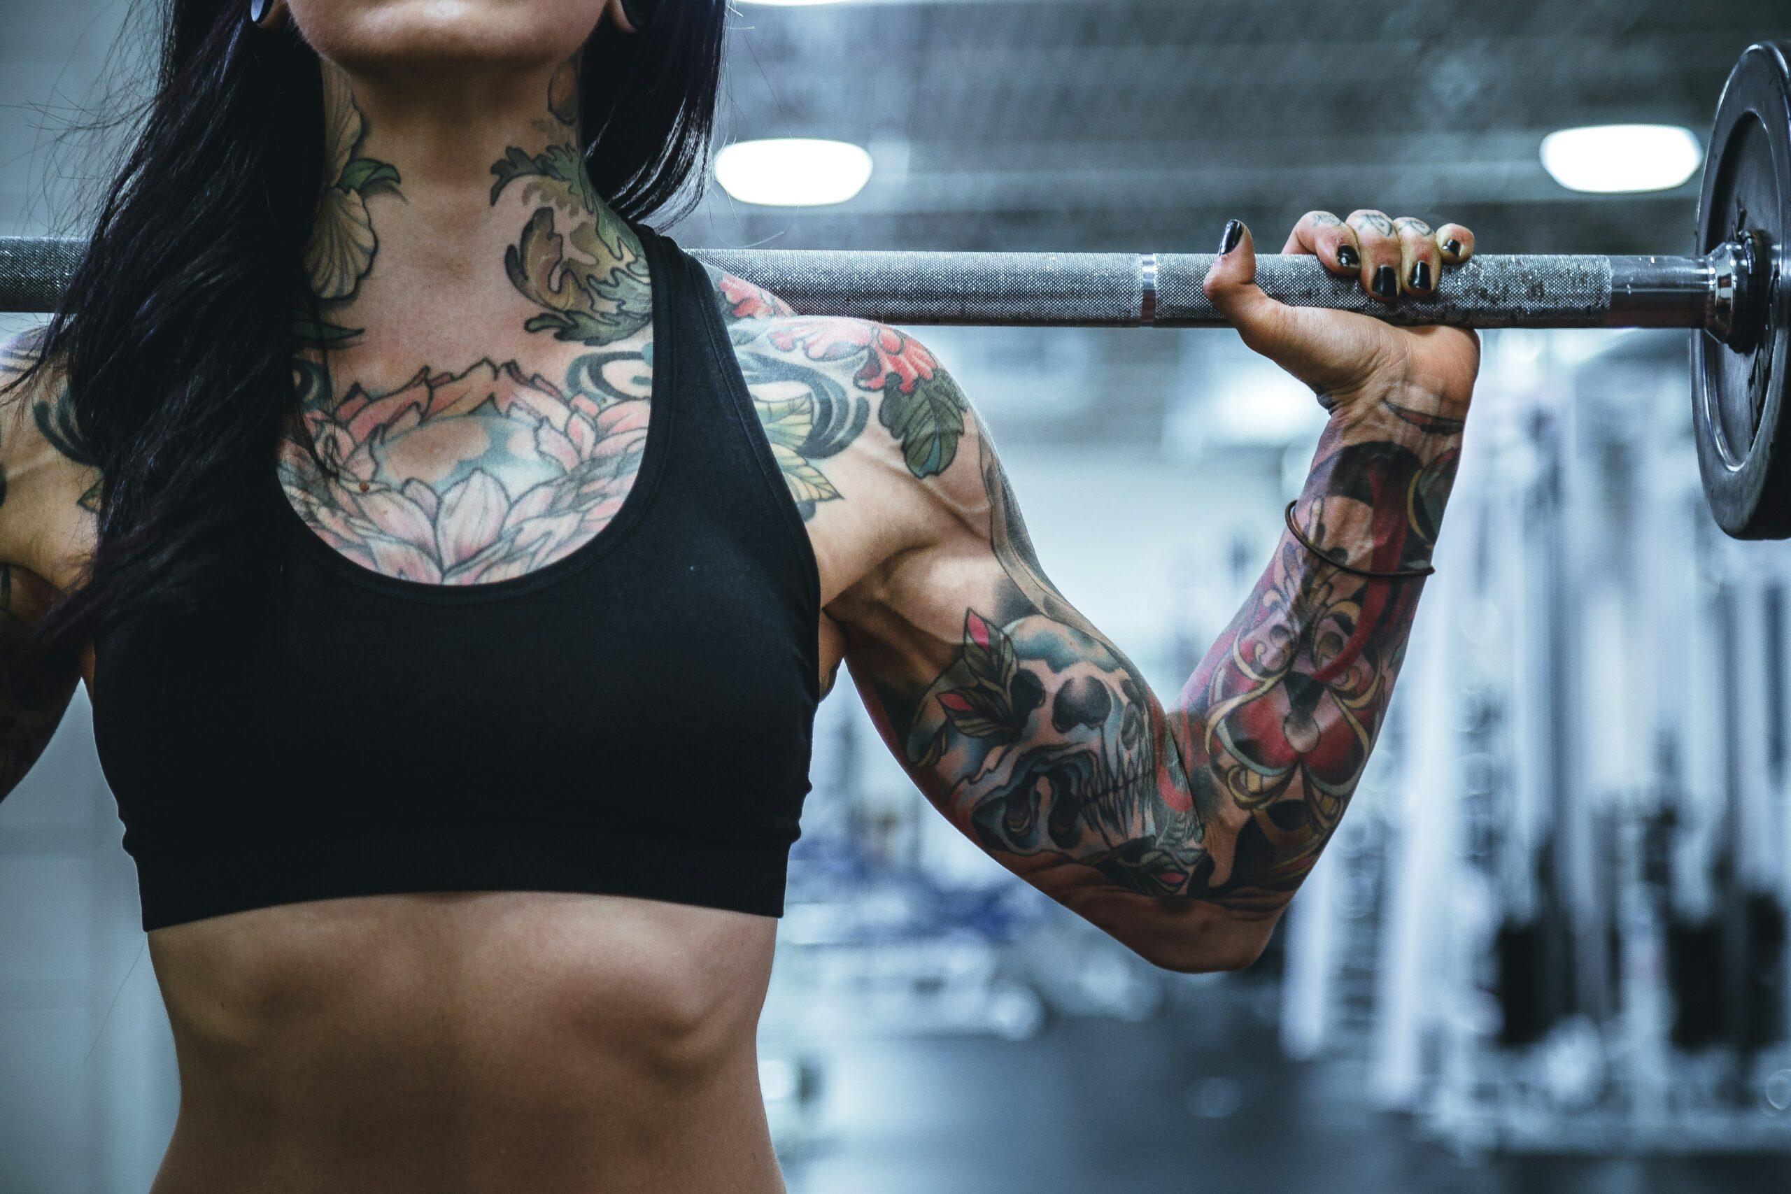
<svg viewBox="0 0 1791 1194"><path fill-rule="evenodd" d="M333 408L306 403L304 422L344 483L317 476L296 440L281 444L281 476L324 542L387 576L491 584L609 525L639 469L648 403L568 397L484 360L387 394L356 385ZM491 458L501 478L480 465Z"/></svg>

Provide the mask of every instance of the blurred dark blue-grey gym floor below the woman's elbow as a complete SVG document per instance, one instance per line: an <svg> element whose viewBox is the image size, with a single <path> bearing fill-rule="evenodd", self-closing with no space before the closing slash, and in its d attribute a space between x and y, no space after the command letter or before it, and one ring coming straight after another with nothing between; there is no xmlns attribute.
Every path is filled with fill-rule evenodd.
<svg viewBox="0 0 1791 1194"><path fill-rule="evenodd" d="M1288 1062L1273 990L1187 990L1144 1024L1060 1020L1024 1042L876 1038L826 1051L842 1117L786 1162L792 1194L1753 1194L1786 1156L1461 1156L1368 1110L1352 1062Z"/></svg>

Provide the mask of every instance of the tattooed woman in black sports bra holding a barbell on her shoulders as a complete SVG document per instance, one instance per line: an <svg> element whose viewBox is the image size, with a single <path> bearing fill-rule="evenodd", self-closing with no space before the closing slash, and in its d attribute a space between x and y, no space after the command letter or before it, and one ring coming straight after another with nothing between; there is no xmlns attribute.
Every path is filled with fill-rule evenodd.
<svg viewBox="0 0 1791 1194"><path fill-rule="evenodd" d="M921 344L641 222L722 20L167 5L0 422L4 782L84 680L179 1054L158 1190L781 1189L754 1020L842 661L951 823L1161 967L1248 965L1349 806L1472 335L1288 310L1225 229L1209 294L1329 428L1164 705ZM1288 251L1395 303L1472 243Z"/></svg>

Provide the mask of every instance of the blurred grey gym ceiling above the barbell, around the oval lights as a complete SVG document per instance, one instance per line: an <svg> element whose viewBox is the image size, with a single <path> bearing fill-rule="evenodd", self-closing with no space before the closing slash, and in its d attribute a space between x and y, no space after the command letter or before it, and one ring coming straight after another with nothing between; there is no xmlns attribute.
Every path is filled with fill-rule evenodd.
<svg viewBox="0 0 1791 1194"><path fill-rule="evenodd" d="M1791 0L736 0L724 140L870 147L838 208L713 190L700 245L1279 247L1307 208L1456 218L1483 247L1680 252L1694 183L1592 197L1537 159L1558 127L1709 129Z"/></svg>

